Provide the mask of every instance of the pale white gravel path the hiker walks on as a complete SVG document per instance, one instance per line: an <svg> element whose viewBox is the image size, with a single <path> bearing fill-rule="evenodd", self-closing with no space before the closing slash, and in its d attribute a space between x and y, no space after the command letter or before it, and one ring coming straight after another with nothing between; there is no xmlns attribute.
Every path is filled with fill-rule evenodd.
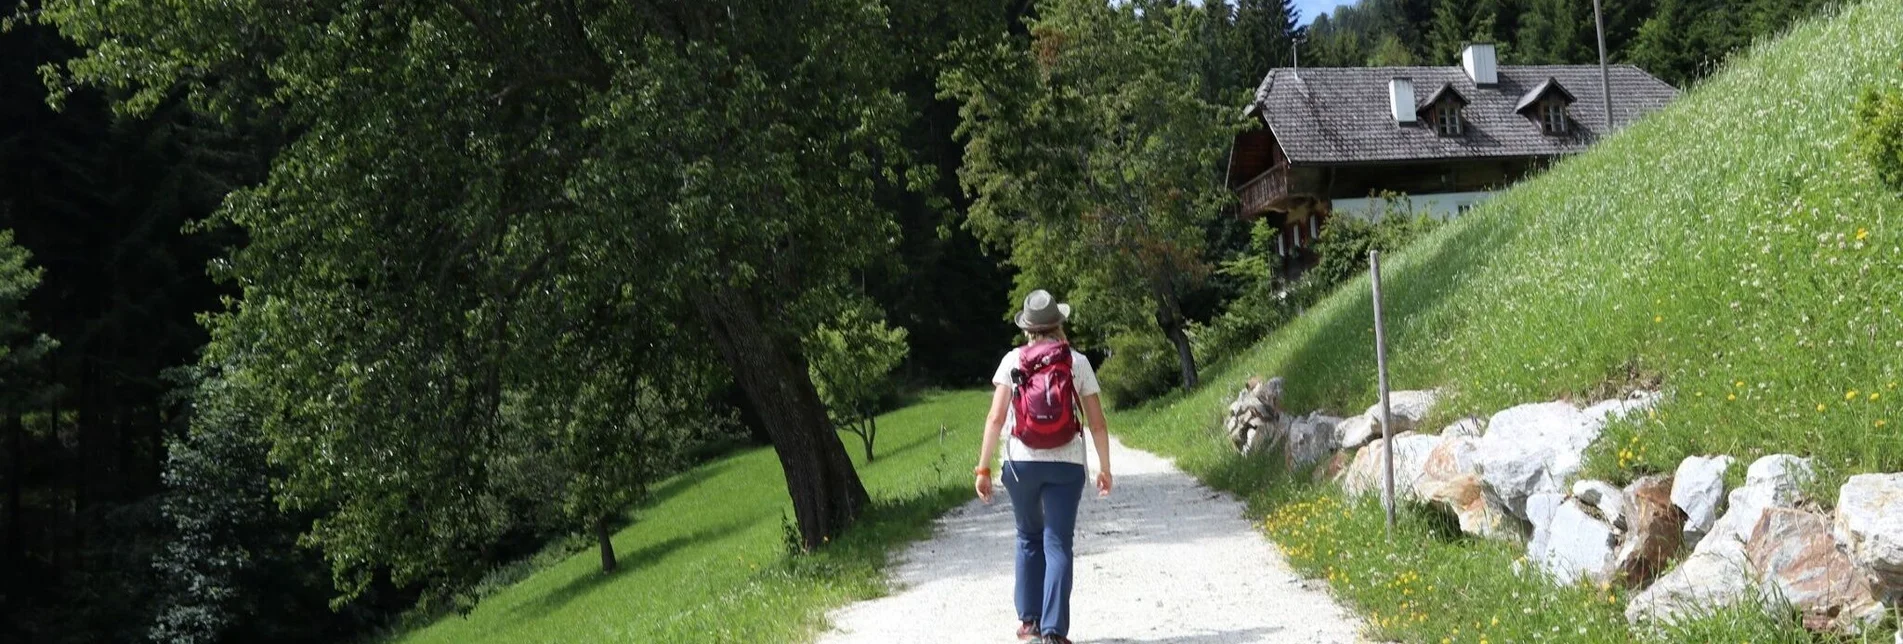
<svg viewBox="0 0 1903 644"><path fill-rule="evenodd" d="M1359 625L1304 581L1243 503L1170 461L1111 440L1117 490L1085 490L1077 516L1077 642L1361 642ZM1010 501L972 501L896 562L893 594L834 612L820 642L1016 642Z"/></svg>

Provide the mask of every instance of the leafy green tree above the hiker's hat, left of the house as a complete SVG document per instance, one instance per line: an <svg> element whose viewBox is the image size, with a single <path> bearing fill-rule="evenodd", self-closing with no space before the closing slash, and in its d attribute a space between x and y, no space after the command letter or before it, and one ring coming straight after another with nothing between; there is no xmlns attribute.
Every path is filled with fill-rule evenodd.
<svg viewBox="0 0 1903 644"><path fill-rule="evenodd" d="M1096 328L1148 316L1186 389L1197 370L1182 301L1208 272L1205 229L1229 200L1216 168L1239 126L1186 65L1193 11L1049 2L1030 51L974 46L940 82L963 103L967 225L1010 253L1020 293L1066 290Z"/></svg>

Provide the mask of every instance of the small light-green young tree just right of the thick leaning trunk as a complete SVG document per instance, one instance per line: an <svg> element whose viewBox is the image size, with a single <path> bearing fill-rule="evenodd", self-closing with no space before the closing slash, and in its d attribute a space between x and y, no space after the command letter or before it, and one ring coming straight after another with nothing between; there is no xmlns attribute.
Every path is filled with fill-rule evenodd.
<svg viewBox="0 0 1903 644"><path fill-rule="evenodd" d="M872 303L853 303L807 333L805 352L826 413L860 438L872 463L879 402L893 392L891 373L906 360L906 330L885 326Z"/></svg>

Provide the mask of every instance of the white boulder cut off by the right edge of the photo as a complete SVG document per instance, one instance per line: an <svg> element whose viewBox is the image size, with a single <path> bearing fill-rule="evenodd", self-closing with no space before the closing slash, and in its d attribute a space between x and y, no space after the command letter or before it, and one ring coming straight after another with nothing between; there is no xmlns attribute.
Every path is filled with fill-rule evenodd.
<svg viewBox="0 0 1903 644"><path fill-rule="evenodd" d="M1836 493L1836 535L1882 598L1903 604L1903 474L1850 476Z"/></svg>

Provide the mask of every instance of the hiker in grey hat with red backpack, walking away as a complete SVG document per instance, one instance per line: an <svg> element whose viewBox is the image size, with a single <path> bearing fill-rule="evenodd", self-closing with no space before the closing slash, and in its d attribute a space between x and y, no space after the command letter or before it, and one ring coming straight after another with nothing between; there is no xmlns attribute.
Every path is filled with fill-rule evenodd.
<svg viewBox="0 0 1903 644"><path fill-rule="evenodd" d="M999 478L1018 522L1018 638L1069 644L1071 535L1089 474L1083 423L1096 446L1096 493L1109 495L1109 431L1090 358L1069 349L1069 305L1049 292L1024 297L1018 328L1028 343L999 362L991 413L978 448L978 499L991 503L991 455L1005 440ZM1068 375L1068 377L1066 377Z"/></svg>

